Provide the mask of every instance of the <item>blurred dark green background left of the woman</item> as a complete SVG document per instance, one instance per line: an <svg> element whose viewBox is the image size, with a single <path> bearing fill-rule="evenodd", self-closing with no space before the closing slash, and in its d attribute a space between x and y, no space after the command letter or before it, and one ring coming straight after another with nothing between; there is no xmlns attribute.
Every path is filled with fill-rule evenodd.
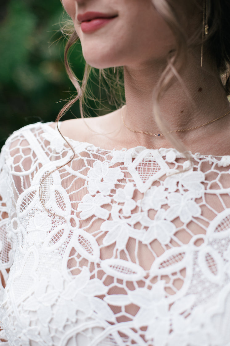
<svg viewBox="0 0 230 346"><path fill-rule="evenodd" d="M63 63L66 39L60 31L66 17L59 0L1 0L0 147L24 125L54 121L73 95L75 89ZM82 79L80 43L75 45L70 61ZM97 89L96 84L94 80L92 89ZM102 96L106 99L106 95ZM105 103L107 106L108 101ZM64 119L73 115L80 116L78 104Z"/></svg>

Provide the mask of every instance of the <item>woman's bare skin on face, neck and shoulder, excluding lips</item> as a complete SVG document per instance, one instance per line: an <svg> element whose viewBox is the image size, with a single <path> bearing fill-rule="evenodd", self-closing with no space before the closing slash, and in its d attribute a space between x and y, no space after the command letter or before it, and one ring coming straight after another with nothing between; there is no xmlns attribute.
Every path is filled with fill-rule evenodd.
<svg viewBox="0 0 230 346"><path fill-rule="evenodd" d="M182 8L180 1L177 4L190 35L191 28L196 29L196 23L202 20L202 13L197 10L194 17L188 17L189 9ZM73 20L84 58L90 65L96 68L124 66L126 107L123 116L126 124L135 130L161 133L153 117L152 93L176 42L151 0L63 0L63 6ZM87 11L117 17L97 31L84 34L77 15ZM191 50L180 75L184 84L174 81L160 101L161 115L170 130L195 127L230 110L207 50L202 68L200 47ZM155 137L128 130L121 121L121 110L99 118L67 120L61 130L72 139L106 149L138 145L155 149L173 147L166 136ZM193 153L228 155L229 130L230 116L226 116L196 130L177 132L175 136Z"/></svg>

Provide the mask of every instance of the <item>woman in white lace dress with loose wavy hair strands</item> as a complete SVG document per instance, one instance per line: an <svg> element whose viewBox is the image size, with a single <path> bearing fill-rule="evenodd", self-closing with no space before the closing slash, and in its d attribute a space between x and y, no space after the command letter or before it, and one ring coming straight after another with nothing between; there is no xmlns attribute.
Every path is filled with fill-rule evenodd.
<svg viewBox="0 0 230 346"><path fill-rule="evenodd" d="M126 106L4 146L2 340L227 346L229 3L63 6L88 64L124 66Z"/></svg>

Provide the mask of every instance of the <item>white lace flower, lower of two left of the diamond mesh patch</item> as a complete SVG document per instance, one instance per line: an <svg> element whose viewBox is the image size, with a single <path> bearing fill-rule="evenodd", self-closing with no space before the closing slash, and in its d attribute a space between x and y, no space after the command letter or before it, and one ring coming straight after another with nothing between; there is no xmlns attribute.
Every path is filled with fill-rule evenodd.
<svg viewBox="0 0 230 346"><path fill-rule="evenodd" d="M78 206L78 211L81 211L81 219L85 220L95 215L100 219L106 220L109 216L109 211L105 208L101 208L101 206L110 203L110 201L110 197L104 197L101 193L97 193L95 197L92 197L89 193L84 195L82 202L79 203Z"/></svg>

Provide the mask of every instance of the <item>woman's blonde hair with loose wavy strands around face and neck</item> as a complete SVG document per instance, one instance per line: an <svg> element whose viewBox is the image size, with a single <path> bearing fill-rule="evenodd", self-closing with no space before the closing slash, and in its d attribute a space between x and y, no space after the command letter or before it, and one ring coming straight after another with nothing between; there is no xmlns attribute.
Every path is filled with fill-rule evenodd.
<svg viewBox="0 0 230 346"><path fill-rule="evenodd" d="M167 92L167 89L169 88L170 84L174 79L178 80L181 84L183 84L183 81L180 77L180 70L186 63L186 58L188 54L188 50L190 47L194 45L200 45L201 44L201 33L202 33L202 9L203 9L203 1L206 0L191 0L190 2L187 2L184 5L184 0L178 0L177 3L175 3L175 0L151 0L153 3L153 6L156 8L156 10L160 13L162 18L166 21L166 23L169 25L172 33L174 34L174 37L176 38L176 49L171 54L171 56L168 59L168 64L165 68L165 70L162 72L161 77L158 81L158 84L153 92L153 115L154 118L159 126L159 128L164 133L168 133L169 129L167 128L167 124L165 124L163 118L161 117L160 112L160 100L162 98L162 95ZM201 20L200 25L197 27L197 30L194 31L193 35L191 37L186 36L186 31L184 30L184 24L181 23L179 20L179 14L178 14L178 8L175 8L174 6L178 7L178 3L181 2L181 7L184 11L187 10L187 15L191 13L190 7L197 7L197 9L200 9L201 13ZM187 6L187 9L184 7ZM184 8L183 8L184 7ZM230 94L230 24L228 20L228 13L230 13L230 2L229 0L222 0L221 3L219 0L208 0L208 18L209 18L209 27L210 32L208 35L208 38L206 38L206 42L203 42L206 45L206 51L209 52L216 61L216 65L219 71L220 76L222 76L222 83L223 88L226 91L226 94ZM181 18L181 16L180 16ZM64 64L66 67L67 74L76 88L77 94L68 101L64 107L60 110L56 122L58 127L58 121L62 118L62 116L67 112L67 110L77 101L80 101L80 113L81 117L83 117L83 103L84 99L88 97L91 97L89 91L87 90L87 81L89 79L90 73L93 71L93 69L86 63L86 67L84 70L84 76L83 80L80 82L77 78L77 76L74 74L68 58L68 53L70 51L70 48L78 41L78 36L76 31L74 30L73 24L69 21L63 28L62 32L65 36L68 37L68 42L65 47L64 52ZM111 88L107 92L108 95L113 101L113 103L116 105L117 108L119 108L123 103L123 80L122 80L122 72L121 69L117 69L116 74L112 72L111 69L105 69L99 71L99 80L102 86L111 85ZM59 130L59 129L58 129ZM62 136L61 132L59 131L60 135ZM63 137L63 136L62 136ZM174 136L174 134L167 134L168 139L171 141L171 143L174 145L174 147L180 151L183 152L185 157L191 162L191 157L189 153L185 150L184 145L178 140L177 137ZM63 137L64 138L64 137ZM66 140L66 139L65 139ZM66 141L67 142L67 141ZM67 142L68 143L68 142ZM73 156L72 158L66 163L69 164L73 158L74 158L74 149L71 147L71 145L68 143L70 148L72 149ZM41 198L41 188L44 181L47 179L49 175L51 175L54 171L59 170L66 164L57 167L52 172L50 172L47 176L44 177L40 184L39 189L39 197L42 206L46 209L44 206L44 203ZM47 210L47 209L46 209Z"/></svg>

